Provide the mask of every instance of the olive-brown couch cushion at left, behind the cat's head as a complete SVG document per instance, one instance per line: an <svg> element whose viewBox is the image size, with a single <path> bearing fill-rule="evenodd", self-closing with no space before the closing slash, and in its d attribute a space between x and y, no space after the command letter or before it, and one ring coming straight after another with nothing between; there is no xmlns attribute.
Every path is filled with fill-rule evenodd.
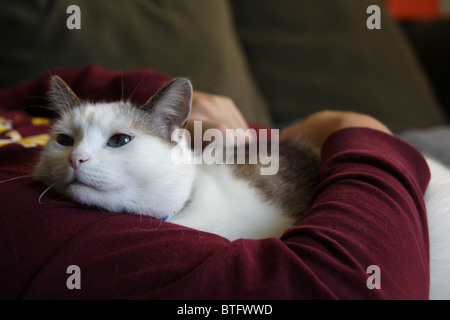
<svg viewBox="0 0 450 320"><path fill-rule="evenodd" d="M69 30L69 5L81 30ZM0 4L0 87L48 69L96 62L188 76L196 89L233 98L252 122L269 113L235 36L228 1L28 0Z"/></svg>

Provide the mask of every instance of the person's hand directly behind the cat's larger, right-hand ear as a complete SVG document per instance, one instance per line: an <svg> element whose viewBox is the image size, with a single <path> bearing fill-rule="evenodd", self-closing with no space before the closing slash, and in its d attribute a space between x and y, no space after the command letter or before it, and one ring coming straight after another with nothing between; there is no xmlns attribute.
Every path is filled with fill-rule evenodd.
<svg viewBox="0 0 450 320"><path fill-rule="evenodd" d="M220 130L224 138L226 129L248 129L247 121L232 99L199 91L194 91L192 110L186 123L186 129L192 137L194 121L202 121L202 136L208 129ZM208 143L209 141L203 142L203 147Z"/></svg>

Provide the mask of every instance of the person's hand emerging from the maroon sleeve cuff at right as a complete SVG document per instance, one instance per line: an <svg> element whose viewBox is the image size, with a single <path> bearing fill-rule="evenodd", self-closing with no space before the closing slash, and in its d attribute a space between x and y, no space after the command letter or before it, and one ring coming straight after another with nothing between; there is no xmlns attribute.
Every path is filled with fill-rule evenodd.
<svg viewBox="0 0 450 320"><path fill-rule="evenodd" d="M307 141L315 151L320 152L323 143L333 132L348 127L365 127L392 134L380 121L365 114L320 111L305 121L282 130L280 140Z"/></svg>

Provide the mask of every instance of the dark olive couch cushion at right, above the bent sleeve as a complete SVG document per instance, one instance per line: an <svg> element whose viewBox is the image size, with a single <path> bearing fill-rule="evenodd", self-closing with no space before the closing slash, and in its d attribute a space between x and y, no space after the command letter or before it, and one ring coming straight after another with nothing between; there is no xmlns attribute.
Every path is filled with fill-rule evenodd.
<svg viewBox="0 0 450 320"><path fill-rule="evenodd" d="M441 124L438 106L403 35L368 0L233 0L238 32L275 121L329 109L371 114L395 128ZM381 6L382 7L382 6Z"/></svg>

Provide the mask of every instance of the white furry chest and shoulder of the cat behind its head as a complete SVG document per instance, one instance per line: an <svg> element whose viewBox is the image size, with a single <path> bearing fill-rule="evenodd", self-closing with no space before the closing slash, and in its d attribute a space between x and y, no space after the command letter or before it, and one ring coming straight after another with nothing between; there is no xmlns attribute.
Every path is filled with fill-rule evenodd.
<svg viewBox="0 0 450 320"><path fill-rule="evenodd" d="M168 222L230 240L280 236L295 223L295 217L283 214L276 203L268 202L258 189L237 178L232 168L213 167L197 168L192 199Z"/></svg>

